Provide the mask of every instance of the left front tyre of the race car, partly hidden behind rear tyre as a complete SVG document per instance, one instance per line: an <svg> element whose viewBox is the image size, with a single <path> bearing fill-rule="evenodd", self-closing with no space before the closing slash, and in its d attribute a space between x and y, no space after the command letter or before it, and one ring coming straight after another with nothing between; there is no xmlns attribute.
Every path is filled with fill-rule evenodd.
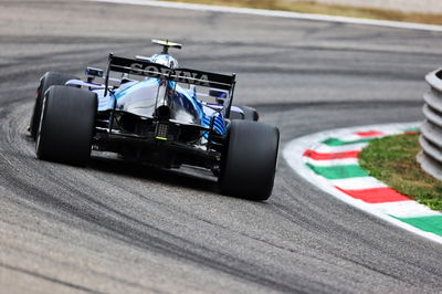
<svg viewBox="0 0 442 294"><path fill-rule="evenodd" d="M52 85L64 85L67 81L76 78L77 77L72 74L56 73L56 72L48 72L40 78L40 84L39 87L36 88L34 111L32 113L31 123L29 126L29 130L33 139L36 139L36 130L40 124L41 108L43 104L44 93Z"/></svg>

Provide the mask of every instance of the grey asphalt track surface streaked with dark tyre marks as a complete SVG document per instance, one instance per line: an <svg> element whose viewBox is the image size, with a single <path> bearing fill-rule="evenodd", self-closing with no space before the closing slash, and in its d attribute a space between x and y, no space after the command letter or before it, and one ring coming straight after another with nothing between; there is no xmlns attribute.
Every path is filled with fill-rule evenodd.
<svg viewBox="0 0 442 294"><path fill-rule="evenodd" d="M238 103L292 138L422 119L441 33L81 1L0 1L1 293L415 293L442 290L442 248L296 176L267 202L194 171L35 159L38 77L105 66L108 52L182 42L182 65L236 72ZM200 176L198 176L200 175Z"/></svg>

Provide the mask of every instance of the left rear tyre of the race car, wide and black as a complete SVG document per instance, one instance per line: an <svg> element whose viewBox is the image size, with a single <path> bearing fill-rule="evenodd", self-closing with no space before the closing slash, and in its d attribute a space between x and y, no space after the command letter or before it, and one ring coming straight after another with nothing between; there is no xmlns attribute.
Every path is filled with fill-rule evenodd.
<svg viewBox="0 0 442 294"><path fill-rule="evenodd" d="M44 95L36 157L84 166L91 158L97 96L87 90L51 86Z"/></svg>

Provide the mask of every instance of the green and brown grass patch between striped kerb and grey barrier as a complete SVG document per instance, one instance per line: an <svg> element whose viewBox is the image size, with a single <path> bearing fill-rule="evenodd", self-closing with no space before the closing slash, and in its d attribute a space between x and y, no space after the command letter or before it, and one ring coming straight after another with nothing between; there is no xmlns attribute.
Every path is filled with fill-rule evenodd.
<svg viewBox="0 0 442 294"><path fill-rule="evenodd" d="M442 181L427 175L415 160L419 134L371 140L359 155L370 176L431 209L442 211Z"/></svg>

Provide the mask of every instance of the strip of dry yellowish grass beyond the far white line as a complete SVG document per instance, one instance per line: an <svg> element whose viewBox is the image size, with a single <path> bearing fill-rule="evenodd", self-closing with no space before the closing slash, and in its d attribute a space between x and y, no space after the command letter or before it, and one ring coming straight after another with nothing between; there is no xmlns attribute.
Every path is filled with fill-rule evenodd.
<svg viewBox="0 0 442 294"><path fill-rule="evenodd" d="M287 0L166 0L171 2L188 2L213 6L230 6L240 8L259 8L270 10L284 10L302 13L340 15L350 18L364 18L375 20L391 20L402 22L417 22L427 24L442 24L441 14L407 13L396 10L355 8L348 6L323 4L313 1Z"/></svg>

